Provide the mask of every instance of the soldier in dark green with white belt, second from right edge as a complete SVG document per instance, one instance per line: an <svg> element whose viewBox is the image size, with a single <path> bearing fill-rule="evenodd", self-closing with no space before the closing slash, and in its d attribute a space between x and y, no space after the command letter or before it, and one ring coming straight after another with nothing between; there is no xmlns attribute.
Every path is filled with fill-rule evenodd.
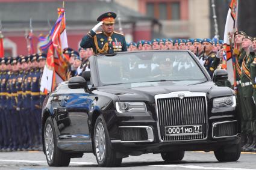
<svg viewBox="0 0 256 170"><path fill-rule="evenodd" d="M242 47L245 50L245 57L242 62L242 74L241 74L241 86L242 86L242 102L245 104L245 112L246 114L246 135L248 136L248 140L246 144L243 146L244 151L251 151L250 145L253 142L253 128L252 128L252 120L255 118L255 106L254 101L252 99L252 80L250 73L250 64L254 60L254 54L250 53L250 47L252 45L252 38L249 36L243 37Z"/></svg>

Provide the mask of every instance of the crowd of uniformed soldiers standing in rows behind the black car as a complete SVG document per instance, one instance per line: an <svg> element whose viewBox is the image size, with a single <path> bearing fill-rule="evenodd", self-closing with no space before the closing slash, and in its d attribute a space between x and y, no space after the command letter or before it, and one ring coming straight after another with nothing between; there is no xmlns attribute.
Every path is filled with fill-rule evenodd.
<svg viewBox="0 0 256 170"><path fill-rule="evenodd" d="M256 151L256 38L235 32L236 83L239 114L242 117L242 149ZM222 67L223 41L205 39L141 40L126 44L134 50L190 50L198 56L210 76ZM78 52L66 48L69 55L67 79L90 70L88 58L93 49L80 47ZM1 59L0 148L2 151L42 150L41 109L45 94L40 93L40 76L45 66L43 53Z"/></svg>

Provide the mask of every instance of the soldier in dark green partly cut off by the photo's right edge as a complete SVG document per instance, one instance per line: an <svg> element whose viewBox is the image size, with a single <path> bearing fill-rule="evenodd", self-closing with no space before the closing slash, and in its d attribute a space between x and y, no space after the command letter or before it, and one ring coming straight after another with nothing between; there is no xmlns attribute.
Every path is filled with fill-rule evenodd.
<svg viewBox="0 0 256 170"><path fill-rule="evenodd" d="M252 97L254 99L254 105L256 110L256 37L252 38L252 49L254 50L254 61L252 61L250 65L250 72L251 72L251 80L252 80L252 88L253 93ZM254 144L251 145L252 151L256 152L256 118L252 120L252 128L253 128L253 135L254 135Z"/></svg>

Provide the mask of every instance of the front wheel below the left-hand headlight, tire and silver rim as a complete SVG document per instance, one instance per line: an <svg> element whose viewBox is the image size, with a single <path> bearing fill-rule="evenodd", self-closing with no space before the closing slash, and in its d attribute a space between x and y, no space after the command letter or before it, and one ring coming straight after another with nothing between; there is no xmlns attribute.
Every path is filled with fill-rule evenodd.
<svg viewBox="0 0 256 170"><path fill-rule="evenodd" d="M101 167L120 166L122 158L116 157L116 152L111 145L107 126L102 115L99 115L96 119L93 134L93 147L98 165Z"/></svg>

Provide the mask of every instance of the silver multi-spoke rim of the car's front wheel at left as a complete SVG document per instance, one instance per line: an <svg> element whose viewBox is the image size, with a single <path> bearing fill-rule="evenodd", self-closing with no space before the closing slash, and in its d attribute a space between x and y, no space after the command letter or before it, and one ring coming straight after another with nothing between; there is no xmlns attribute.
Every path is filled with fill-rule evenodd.
<svg viewBox="0 0 256 170"><path fill-rule="evenodd" d="M102 123L98 123L95 132L95 149L96 155L99 161L102 161L105 157L105 132Z"/></svg>

